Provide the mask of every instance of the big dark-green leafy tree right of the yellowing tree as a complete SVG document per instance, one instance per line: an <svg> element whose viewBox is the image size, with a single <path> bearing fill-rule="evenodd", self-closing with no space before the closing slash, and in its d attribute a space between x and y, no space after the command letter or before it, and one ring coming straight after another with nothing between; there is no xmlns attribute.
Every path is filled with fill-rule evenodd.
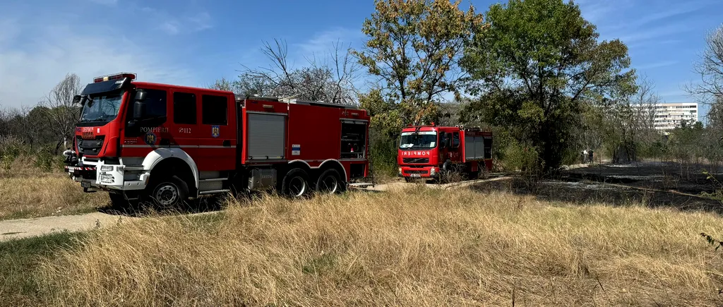
<svg viewBox="0 0 723 307"><path fill-rule="evenodd" d="M493 4L489 27L466 46L461 66L481 98L468 112L507 126L538 155L541 170L560 166L583 101L632 92L628 48L599 42L596 27L572 1L510 0Z"/></svg>

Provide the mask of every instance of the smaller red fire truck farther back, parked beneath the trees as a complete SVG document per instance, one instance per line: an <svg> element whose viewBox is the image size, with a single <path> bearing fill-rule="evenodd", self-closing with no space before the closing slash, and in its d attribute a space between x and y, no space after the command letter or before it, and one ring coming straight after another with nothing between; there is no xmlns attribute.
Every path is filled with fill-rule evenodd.
<svg viewBox="0 0 723 307"><path fill-rule="evenodd" d="M492 170L492 132L434 123L408 126L402 129L397 163L406 181L453 172L477 178Z"/></svg>

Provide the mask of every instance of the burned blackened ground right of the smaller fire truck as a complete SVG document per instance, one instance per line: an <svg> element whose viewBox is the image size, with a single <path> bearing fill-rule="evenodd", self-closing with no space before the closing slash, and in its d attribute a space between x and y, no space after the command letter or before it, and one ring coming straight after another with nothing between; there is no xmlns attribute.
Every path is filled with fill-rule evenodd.
<svg viewBox="0 0 723 307"><path fill-rule="evenodd" d="M504 181L477 183L476 191L509 191L534 195L552 202L573 204L643 204L723 213L723 204L704 196L716 183L703 174L705 165L638 163L633 165L591 165L565 170L552 180L534 181L515 177ZM711 169L711 168L707 168ZM716 175L721 181L722 176Z"/></svg>

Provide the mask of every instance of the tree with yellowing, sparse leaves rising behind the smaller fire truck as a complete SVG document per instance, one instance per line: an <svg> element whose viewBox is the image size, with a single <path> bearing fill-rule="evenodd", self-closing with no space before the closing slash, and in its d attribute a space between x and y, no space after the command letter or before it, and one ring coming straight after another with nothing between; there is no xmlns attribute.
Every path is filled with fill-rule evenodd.
<svg viewBox="0 0 723 307"><path fill-rule="evenodd" d="M460 1L377 0L376 11L364 21L367 42L354 54L369 74L378 78L374 95L385 99L387 111L377 124L395 130L403 124L432 121L434 100L458 92L464 74L458 69L463 46L483 25L482 15Z"/></svg>

